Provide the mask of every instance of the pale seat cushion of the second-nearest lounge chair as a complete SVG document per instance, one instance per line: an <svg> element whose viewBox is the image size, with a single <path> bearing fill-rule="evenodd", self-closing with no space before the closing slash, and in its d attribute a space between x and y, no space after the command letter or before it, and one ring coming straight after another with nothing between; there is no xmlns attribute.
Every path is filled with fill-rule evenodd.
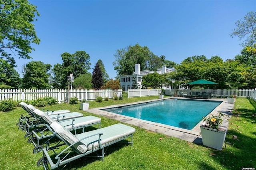
<svg viewBox="0 0 256 170"><path fill-rule="evenodd" d="M100 121L101 119L95 116L80 117L79 119L74 120L74 128L88 126L94 123L99 123ZM73 128L72 122L73 121L70 120L70 121L64 121L59 123L60 125L66 127L68 130L71 130Z"/></svg>

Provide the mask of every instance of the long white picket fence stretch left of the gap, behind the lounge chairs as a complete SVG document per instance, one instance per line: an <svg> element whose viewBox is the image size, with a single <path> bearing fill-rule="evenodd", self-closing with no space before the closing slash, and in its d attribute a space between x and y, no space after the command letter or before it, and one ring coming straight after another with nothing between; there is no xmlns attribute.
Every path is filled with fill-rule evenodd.
<svg viewBox="0 0 256 170"><path fill-rule="evenodd" d="M122 94L122 89L118 90L96 90L96 89L72 89L70 90L70 98L77 97L78 101L86 99L94 101L98 96L108 97L112 99L114 95L118 97ZM44 97L53 97L58 103L67 101L68 91L66 89L0 89L0 101L12 99L13 101L30 101Z"/></svg>

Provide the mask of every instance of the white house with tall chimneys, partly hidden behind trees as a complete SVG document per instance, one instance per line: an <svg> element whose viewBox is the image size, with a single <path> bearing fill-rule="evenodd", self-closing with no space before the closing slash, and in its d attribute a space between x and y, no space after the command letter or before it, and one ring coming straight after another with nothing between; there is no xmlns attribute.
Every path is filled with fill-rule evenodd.
<svg viewBox="0 0 256 170"><path fill-rule="evenodd" d="M166 68L166 65L163 65L161 69L157 69L158 74L164 74L164 73L170 73L174 71L174 68ZM132 87L132 77L135 77L135 79L138 82L138 87L139 89L142 88L141 82L142 82L142 76L143 75L148 75L150 73L154 73L155 71L150 71L150 70L143 70L140 71L140 64L135 64L135 71L134 74L131 75L123 75L120 77L120 85L122 87L123 91L128 91L128 89L131 89ZM164 89L171 89L170 86L164 87Z"/></svg>

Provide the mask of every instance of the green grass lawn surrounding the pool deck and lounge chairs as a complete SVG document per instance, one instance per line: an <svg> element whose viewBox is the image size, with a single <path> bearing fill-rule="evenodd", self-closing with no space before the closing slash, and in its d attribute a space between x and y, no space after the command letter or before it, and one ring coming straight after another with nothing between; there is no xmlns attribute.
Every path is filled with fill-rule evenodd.
<svg viewBox="0 0 256 170"><path fill-rule="evenodd" d="M141 97L122 101L90 101L90 108L120 103L156 99L158 97ZM49 110L68 109L78 111L84 116L93 115L80 111L79 105L58 104L46 107ZM114 144L108 148L104 162L100 158L84 157L70 162L66 169L78 170L152 170L152 169L186 169L186 170L240 170L242 167L256 168L256 103L251 99L238 98L234 115L230 119L226 136L226 148L214 150L194 143L151 132L135 127L134 145ZM10 112L0 112L0 169L34 170L41 153L33 154L34 146L27 143L25 132L18 130L16 123L22 108ZM94 115L99 117L98 115ZM102 127L119 123L100 117ZM131 126L131 125L130 125ZM95 127L98 127L95 125ZM237 136L237 139L233 138ZM160 140L162 138L162 140ZM128 138L127 140L130 140Z"/></svg>

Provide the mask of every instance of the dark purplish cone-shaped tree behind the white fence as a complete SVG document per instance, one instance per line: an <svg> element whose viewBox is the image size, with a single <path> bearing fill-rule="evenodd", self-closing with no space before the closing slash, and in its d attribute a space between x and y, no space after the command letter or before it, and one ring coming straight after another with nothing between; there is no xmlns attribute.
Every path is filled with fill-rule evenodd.
<svg viewBox="0 0 256 170"><path fill-rule="evenodd" d="M92 86L94 89L100 89L103 85L103 75L100 69L100 65L96 63L94 70L92 71Z"/></svg>

